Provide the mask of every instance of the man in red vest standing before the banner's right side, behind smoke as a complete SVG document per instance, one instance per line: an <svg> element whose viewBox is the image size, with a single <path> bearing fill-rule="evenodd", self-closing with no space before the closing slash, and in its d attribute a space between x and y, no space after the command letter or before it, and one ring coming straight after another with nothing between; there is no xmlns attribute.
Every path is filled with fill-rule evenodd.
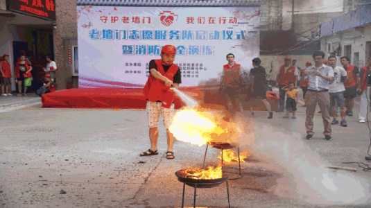
<svg viewBox="0 0 371 208"><path fill-rule="evenodd" d="M243 113L242 103L239 99L239 94L242 88L242 67L241 64L234 62L234 55L232 53L227 54L227 62L223 66L221 85L219 92L224 92L227 98L227 107L232 115L236 114L233 109L233 103L239 112Z"/></svg>

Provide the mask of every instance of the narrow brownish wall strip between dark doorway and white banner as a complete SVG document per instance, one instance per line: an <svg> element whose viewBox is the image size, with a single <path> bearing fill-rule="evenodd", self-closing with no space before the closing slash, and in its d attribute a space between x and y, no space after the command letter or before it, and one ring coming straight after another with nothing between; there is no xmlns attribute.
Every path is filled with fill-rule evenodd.
<svg viewBox="0 0 371 208"><path fill-rule="evenodd" d="M72 71L68 64L68 53L64 46L65 40L77 39L77 11L76 0L55 1L55 15L57 17L57 28L53 30L54 56L58 64L57 83L59 89L66 89L67 82L71 80ZM74 86L78 79L74 78Z"/></svg>

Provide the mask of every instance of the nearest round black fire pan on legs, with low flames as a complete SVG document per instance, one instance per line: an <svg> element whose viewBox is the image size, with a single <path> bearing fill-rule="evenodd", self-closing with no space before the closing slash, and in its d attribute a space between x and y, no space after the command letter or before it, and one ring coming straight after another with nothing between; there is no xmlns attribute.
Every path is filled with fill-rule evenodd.
<svg viewBox="0 0 371 208"><path fill-rule="evenodd" d="M222 173L222 175L212 175L212 178L204 179L205 175L200 175L201 171L207 171L203 168L189 168L176 171L175 175L178 177L178 180L183 183L183 194L182 194L182 208L184 207L184 191L185 185L187 184L190 187L194 187L193 195L193 207L196 207L196 190L197 188L207 189L212 187L217 187L224 182L227 184L227 196L228 196L228 207L230 207L230 190L228 188L228 173ZM219 176L219 177L218 177Z"/></svg>

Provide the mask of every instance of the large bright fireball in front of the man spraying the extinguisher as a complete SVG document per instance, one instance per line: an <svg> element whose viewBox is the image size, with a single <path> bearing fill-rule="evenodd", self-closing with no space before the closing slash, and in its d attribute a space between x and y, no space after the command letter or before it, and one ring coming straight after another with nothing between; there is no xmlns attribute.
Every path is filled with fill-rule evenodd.
<svg viewBox="0 0 371 208"><path fill-rule="evenodd" d="M169 131L179 141L202 146L211 141L235 143L243 128L223 121L216 110L185 108L175 114Z"/></svg>

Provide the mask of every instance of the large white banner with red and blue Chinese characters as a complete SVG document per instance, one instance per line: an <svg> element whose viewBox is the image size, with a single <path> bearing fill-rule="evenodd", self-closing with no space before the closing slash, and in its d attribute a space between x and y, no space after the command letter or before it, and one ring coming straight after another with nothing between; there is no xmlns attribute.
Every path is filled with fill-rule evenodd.
<svg viewBox="0 0 371 208"><path fill-rule="evenodd" d="M260 7L78 6L79 87L141 88L150 60L176 47L180 87L219 79L233 53L244 76L259 56Z"/></svg>

